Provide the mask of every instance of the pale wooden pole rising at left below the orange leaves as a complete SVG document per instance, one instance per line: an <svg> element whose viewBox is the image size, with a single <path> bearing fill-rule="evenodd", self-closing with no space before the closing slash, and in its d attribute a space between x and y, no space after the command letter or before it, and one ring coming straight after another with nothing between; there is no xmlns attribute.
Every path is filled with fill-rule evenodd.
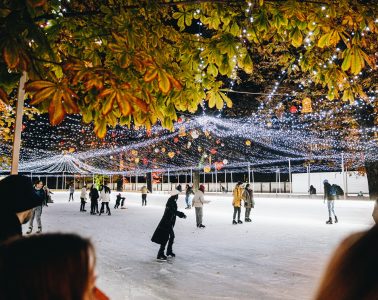
<svg viewBox="0 0 378 300"><path fill-rule="evenodd" d="M22 117L24 114L24 98L25 98L25 82L27 80L26 72L22 73L20 84L18 86L17 107L16 107L16 123L13 135L12 148L12 165L11 174L18 174L18 163L20 161L20 147L21 147L21 131L22 131Z"/></svg>

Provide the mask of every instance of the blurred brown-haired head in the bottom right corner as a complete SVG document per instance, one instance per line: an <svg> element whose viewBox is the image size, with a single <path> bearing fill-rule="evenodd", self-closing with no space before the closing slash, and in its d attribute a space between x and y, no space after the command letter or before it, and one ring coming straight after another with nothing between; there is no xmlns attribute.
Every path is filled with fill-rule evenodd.
<svg viewBox="0 0 378 300"><path fill-rule="evenodd" d="M347 237L336 249L315 300L378 299L378 225Z"/></svg>

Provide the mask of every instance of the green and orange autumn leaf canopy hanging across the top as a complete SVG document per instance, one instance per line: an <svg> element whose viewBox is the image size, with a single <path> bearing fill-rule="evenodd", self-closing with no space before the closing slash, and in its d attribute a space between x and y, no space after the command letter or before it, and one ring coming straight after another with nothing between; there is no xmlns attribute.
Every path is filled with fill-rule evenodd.
<svg viewBox="0 0 378 300"><path fill-rule="evenodd" d="M377 16L366 0L4 0L0 96L26 71L30 104L53 125L80 113L101 138L116 124L171 129L203 100L231 107L222 79L270 60L326 102L353 102L377 84L359 79L376 68Z"/></svg>

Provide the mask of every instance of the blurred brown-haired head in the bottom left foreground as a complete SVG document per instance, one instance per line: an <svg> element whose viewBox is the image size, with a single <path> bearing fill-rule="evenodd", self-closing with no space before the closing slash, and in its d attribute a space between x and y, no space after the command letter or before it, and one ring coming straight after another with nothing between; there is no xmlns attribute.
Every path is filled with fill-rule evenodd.
<svg viewBox="0 0 378 300"><path fill-rule="evenodd" d="M10 239L0 246L0 297L109 299L95 287L95 263L92 243L75 234Z"/></svg>

